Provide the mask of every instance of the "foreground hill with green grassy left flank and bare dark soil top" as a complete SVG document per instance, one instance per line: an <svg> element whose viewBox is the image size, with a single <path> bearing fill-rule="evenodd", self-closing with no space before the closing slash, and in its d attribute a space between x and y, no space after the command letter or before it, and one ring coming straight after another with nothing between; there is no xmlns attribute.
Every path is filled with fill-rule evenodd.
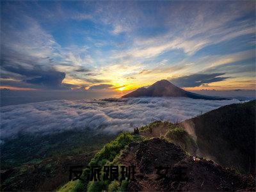
<svg viewBox="0 0 256 192"><path fill-rule="evenodd" d="M195 161L178 145L143 136L145 131L120 134L95 155L89 166L102 167L100 181L86 181L84 170L83 180L72 180L58 191L255 191L252 175L241 175L198 157ZM121 174L118 180L102 180L104 165L134 165L135 180L121 180ZM161 171L167 171L166 177L159 179L159 166L168 168Z"/></svg>

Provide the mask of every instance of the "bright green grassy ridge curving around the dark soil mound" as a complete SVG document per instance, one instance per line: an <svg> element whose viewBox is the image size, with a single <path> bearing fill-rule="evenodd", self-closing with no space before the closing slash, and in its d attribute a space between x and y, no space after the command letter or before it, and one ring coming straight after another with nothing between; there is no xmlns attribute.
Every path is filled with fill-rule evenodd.
<svg viewBox="0 0 256 192"><path fill-rule="evenodd" d="M159 131L160 130L160 131ZM180 128L177 124L169 122L156 121L140 128L140 135L131 133L122 133L111 143L106 144L95 157L90 161L89 165L120 165L119 158L127 145L132 142L140 142L150 138L163 138L172 141L176 145L180 145L187 152L195 150L196 143L193 141L188 132ZM193 150L191 150L193 148ZM84 170L85 174L85 170ZM100 181L100 182L82 182L81 180L72 180L62 186L58 191L125 191L129 182L119 181Z"/></svg>

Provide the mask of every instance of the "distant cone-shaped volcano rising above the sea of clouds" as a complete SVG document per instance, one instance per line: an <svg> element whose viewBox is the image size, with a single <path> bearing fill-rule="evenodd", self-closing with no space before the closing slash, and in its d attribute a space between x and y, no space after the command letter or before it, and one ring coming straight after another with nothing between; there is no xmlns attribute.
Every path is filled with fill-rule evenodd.
<svg viewBox="0 0 256 192"><path fill-rule="evenodd" d="M148 88L138 88L134 92L128 93L122 96L127 97L189 97L192 99L205 99L205 100L223 100L225 98L210 97L205 95L199 95L196 93L187 92L181 88L175 86L167 80L157 81Z"/></svg>

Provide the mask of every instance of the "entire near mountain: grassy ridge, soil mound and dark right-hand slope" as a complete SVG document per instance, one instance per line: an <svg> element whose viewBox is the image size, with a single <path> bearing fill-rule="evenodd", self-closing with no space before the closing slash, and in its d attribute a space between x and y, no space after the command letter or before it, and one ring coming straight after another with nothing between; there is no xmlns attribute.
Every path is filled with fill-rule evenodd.
<svg viewBox="0 0 256 192"><path fill-rule="evenodd" d="M255 100L122 133L89 163L118 164L134 165L135 180L87 182L84 170L58 191L255 191Z"/></svg>

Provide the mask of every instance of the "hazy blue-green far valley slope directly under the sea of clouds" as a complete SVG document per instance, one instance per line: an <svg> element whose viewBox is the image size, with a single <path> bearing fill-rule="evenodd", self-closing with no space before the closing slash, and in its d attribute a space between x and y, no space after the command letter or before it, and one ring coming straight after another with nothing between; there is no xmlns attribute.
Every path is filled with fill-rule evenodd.
<svg viewBox="0 0 256 192"><path fill-rule="evenodd" d="M47 157L67 157L99 150L113 140L114 134L98 134L98 131L72 130L36 136L19 134L17 138L6 140L1 145L1 169L9 169L21 164L38 164ZM22 146L20 148L20 146Z"/></svg>

